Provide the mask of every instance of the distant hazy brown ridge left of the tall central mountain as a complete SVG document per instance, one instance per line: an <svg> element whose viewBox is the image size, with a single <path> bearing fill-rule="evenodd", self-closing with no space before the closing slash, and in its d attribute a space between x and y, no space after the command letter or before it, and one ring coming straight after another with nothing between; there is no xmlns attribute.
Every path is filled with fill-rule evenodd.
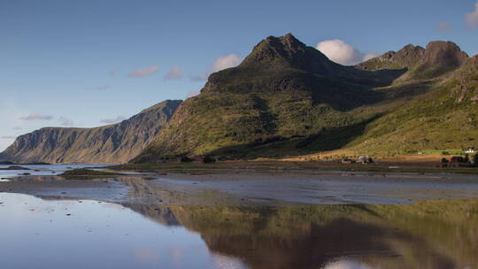
<svg viewBox="0 0 478 269"><path fill-rule="evenodd" d="M181 102L168 100L104 127L45 127L19 136L0 159L19 163L124 163L158 135Z"/></svg>

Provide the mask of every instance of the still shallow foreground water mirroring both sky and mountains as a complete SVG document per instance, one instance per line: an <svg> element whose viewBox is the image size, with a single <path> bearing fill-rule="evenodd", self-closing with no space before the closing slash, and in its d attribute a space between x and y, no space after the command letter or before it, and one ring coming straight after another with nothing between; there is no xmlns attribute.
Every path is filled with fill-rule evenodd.
<svg viewBox="0 0 478 269"><path fill-rule="evenodd" d="M478 201L158 206L0 193L2 268L478 268Z"/></svg>

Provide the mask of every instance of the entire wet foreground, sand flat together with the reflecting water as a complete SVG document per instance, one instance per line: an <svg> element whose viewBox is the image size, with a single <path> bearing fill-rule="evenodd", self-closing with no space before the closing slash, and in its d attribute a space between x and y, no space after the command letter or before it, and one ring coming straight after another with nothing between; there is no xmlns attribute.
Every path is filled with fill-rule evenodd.
<svg viewBox="0 0 478 269"><path fill-rule="evenodd" d="M477 212L473 175L34 174L0 182L0 262L2 268L478 268Z"/></svg>

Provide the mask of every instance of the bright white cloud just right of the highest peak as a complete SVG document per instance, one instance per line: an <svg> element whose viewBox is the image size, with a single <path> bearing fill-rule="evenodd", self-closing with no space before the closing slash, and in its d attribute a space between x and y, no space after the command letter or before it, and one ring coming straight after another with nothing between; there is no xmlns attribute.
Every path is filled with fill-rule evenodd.
<svg viewBox="0 0 478 269"><path fill-rule="evenodd" d="M316 47L330 60L341 65L357 65L367 59L374 58L374 53L365 54L355 49L351 44L339 39L319 42Z"/></svg>

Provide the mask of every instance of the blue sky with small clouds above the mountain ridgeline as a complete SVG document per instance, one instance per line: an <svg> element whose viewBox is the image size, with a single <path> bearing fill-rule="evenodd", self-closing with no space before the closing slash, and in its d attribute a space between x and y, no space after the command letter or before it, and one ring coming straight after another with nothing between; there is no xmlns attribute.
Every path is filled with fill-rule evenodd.
<svg viewBox="0 0 478 269"><path fill-rule="evenodd" d="M36 128L96 127L184 99L268 35L322 42L348 64L433 40L474 55L476 3L1 1L0 150Z"/></svg>

